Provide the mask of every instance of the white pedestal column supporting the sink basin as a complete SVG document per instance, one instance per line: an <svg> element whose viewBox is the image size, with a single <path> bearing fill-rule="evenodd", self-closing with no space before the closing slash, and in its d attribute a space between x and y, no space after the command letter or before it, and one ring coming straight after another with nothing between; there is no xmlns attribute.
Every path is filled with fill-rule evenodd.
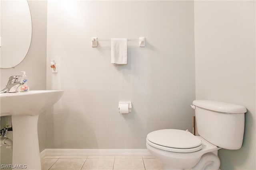
<svg viewBox="0 0 256 170"><path fill-rule="evenodd" d="M41 170L37 122L38 115L12 115L13 166L23 166L24 170L26 165L28 170Z"/></svg>

